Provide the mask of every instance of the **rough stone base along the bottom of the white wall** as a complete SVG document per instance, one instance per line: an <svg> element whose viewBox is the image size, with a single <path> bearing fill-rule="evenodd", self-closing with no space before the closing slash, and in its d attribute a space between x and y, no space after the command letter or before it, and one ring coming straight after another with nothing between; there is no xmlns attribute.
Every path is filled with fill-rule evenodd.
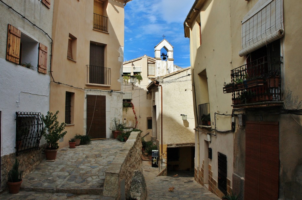
<svg viewBox="0 0 302 200"><path fill-rule="evenodd" d="M8 171L15 163L15 158L18 159L20 166L19 170L23 170L23 177L34 169L43 159L45 159L44 149L46 144L40 146L40 150L29 150L16 157L16 153L1 156L1 190L6 188L8 180Z"/></svg>

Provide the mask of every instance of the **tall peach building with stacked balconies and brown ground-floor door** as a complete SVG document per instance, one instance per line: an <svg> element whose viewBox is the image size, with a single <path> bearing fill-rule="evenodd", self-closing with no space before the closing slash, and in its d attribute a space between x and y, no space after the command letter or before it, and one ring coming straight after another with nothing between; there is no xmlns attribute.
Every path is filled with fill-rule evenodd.
<svg viewBox="0 0 302 200"><path fill-rule="evenodd" d="M50 111L67 124L60 147L75 134L109 138L122 118L123 3L54 1Z"/></svg>

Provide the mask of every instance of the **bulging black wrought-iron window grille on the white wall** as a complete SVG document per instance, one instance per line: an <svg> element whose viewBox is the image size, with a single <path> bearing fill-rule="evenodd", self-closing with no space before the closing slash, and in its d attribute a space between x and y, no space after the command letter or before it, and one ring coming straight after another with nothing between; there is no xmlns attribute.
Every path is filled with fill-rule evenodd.
<svg viewBox="0 0 302 200"><path fill-rule="evenodd" d="M43 128L40 112L16 112L16 156L39 149Z"/></svg>

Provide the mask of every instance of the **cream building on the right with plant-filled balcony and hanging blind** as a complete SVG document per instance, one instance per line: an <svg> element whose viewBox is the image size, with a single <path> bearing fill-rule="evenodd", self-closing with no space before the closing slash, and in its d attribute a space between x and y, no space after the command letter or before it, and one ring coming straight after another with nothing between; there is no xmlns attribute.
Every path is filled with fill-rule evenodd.
<svg viewBox="0 0 302 200"><path fill-rule="evenodd" d="M301 6L197 0L184 22L193 74L195 180L218 196L301 196L301 163L293 153L302 141L302 27L294 22ZM208 113L210 125L203 118Z"/></svg>

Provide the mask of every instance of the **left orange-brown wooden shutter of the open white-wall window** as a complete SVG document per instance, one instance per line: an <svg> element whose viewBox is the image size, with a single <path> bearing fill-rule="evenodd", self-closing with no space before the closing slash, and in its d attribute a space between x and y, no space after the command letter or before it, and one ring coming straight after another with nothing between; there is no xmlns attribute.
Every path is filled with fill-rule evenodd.
<svg viewBox="0 0 302 200"><path fill-rule="evenodd" d="M6 60L19 64L21 31L8 24Z"/></svg>

